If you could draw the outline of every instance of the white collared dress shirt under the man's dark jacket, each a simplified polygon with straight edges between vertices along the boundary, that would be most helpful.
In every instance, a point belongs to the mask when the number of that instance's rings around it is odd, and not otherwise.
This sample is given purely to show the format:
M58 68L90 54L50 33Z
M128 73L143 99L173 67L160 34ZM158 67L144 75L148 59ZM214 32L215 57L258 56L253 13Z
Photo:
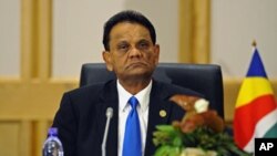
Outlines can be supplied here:
M146 142L151 89L152 89L152 81L144 90L142 90L141 92L134 95L138 101L138 105L136 110L138 113L140 126L141 126L142 155L144 155L144 148L145 148L145 142ZM129 93L120 84L119 80L117 80L117 92L119 92L119 152L117 153L119 153L119 156L122 156L126 118L132 108L131 105L127 104L127 101L133 95Z

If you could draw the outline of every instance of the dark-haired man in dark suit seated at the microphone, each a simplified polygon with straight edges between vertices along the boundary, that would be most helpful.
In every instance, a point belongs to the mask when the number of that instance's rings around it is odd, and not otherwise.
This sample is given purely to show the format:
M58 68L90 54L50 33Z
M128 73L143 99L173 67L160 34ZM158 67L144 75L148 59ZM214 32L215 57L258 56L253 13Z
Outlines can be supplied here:
M171 124L185 113L168 98L174 94L199 94L152 79L158 63L160 45L153 24L143 14L122 11L113 15L104 25L103 44L103 60L117 79L64 93L53 122L59 128L64 156L102 155L107 107L113 108L114 115L107 133L106 155L127 156L124 136L132 110L127 101L131 96L138 101L138 155L151 156L155 152L152 142L155 126Z

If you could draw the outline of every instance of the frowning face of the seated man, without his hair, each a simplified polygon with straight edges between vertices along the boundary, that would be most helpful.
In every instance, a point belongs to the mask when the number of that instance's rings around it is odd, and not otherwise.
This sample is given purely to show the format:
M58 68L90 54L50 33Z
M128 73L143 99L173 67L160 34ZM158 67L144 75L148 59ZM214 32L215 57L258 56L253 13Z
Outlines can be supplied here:
M104 61L121 81L151 77L158 63L160 46L153 44L145 27L117 23L111 30L109 45L110 51L103 52Z

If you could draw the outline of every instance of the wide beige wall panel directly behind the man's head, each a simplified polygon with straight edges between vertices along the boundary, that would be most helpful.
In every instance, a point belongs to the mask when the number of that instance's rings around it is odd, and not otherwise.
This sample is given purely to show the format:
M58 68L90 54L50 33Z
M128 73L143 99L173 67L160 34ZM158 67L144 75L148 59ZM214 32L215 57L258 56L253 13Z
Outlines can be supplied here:
M176 62L178 0L54 0L53 76L79 76L82 63L102 61L104 22L114 13L134 9L156 28L161 61Z

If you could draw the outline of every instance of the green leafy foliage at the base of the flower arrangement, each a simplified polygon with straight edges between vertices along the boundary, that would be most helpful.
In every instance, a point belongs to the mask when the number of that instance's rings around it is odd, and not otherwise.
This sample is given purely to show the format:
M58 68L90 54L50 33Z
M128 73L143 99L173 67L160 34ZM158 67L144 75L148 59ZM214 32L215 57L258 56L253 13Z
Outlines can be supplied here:
M208 127L198 127L192 133L182 133L172 125L160 125L154 132L153 142L158 146L155 156L178 156L182 148L196 147L204 150L215 150L218 156L250 156L240 150L232 136L226 133L215 133Z

